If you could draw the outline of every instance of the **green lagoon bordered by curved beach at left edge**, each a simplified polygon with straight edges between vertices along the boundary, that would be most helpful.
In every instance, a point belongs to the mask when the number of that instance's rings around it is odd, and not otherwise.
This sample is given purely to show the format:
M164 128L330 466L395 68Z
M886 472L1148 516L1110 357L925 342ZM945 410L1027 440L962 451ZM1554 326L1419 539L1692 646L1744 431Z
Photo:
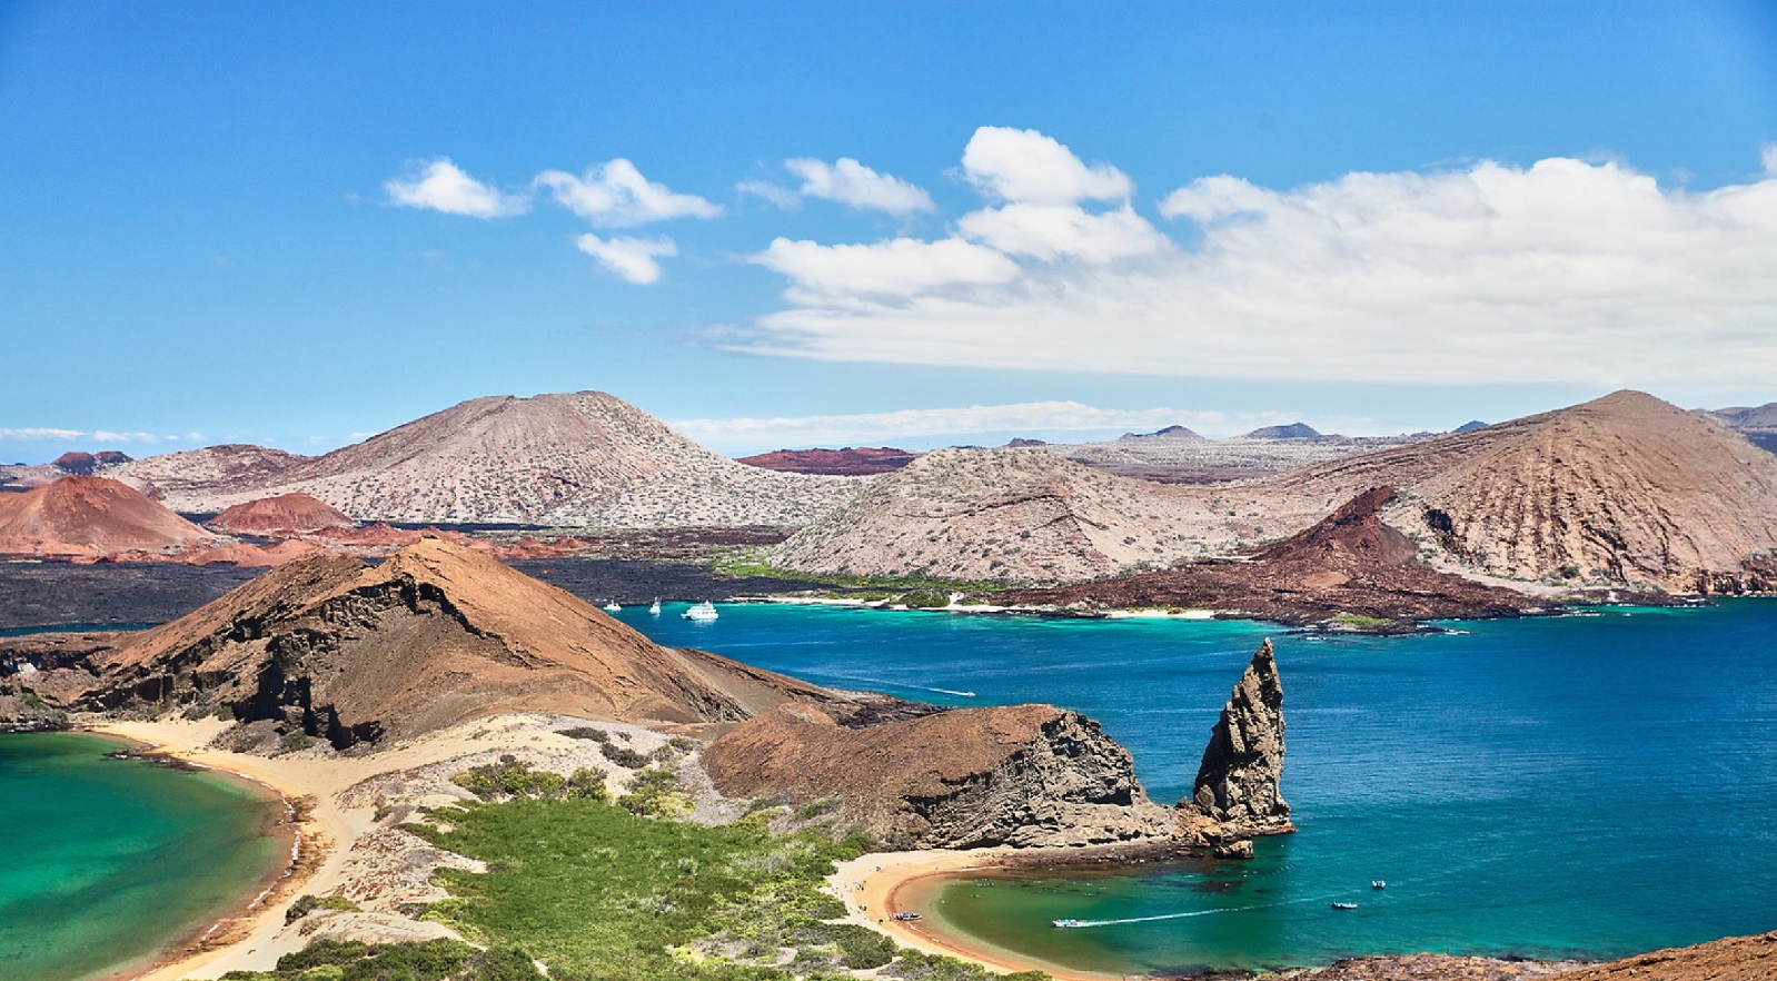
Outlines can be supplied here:
M281 862L274 800L211 773L107 759L119 748L0 736L0 977L75 981L139 963Z

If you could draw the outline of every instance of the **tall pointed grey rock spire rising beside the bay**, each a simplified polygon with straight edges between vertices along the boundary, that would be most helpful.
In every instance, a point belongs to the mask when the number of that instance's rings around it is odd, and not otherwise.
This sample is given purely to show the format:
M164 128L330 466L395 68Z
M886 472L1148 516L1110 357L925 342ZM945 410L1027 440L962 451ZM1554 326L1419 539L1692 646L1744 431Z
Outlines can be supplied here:
M1283 684L1267 638L1223 706L1198 782L1180 805L1223 825L1223 837L1294 832L1290 805L1278 796L1281 775Z

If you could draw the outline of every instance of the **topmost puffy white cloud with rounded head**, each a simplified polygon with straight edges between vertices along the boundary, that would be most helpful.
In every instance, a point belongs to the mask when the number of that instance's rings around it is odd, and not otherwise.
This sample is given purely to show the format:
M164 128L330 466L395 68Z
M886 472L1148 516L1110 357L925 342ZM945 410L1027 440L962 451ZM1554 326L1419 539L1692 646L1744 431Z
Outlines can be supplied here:
M1032 204L1118 201L1136 185L1123 171L1088 167L1052 137L1036 130L981 126L963 149L963 176L983 194Z

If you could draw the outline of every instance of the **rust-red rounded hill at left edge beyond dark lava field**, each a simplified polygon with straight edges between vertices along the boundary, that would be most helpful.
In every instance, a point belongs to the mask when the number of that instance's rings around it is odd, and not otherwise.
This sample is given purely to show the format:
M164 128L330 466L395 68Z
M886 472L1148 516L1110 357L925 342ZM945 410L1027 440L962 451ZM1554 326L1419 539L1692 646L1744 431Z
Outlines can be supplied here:
M103 476L0 494L0 554L103 556L213 544L217 535Z

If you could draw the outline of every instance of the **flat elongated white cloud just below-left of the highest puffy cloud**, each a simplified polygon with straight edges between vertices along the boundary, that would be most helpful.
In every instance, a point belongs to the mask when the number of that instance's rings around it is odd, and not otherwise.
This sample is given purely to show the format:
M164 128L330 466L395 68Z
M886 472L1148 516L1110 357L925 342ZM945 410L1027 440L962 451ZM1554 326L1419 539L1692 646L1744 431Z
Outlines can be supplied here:
M1018 277L1018 263L960 238L894 238L873 245L821 245L775 238L752 261L782 272L798 297L906 297L954 284Z

